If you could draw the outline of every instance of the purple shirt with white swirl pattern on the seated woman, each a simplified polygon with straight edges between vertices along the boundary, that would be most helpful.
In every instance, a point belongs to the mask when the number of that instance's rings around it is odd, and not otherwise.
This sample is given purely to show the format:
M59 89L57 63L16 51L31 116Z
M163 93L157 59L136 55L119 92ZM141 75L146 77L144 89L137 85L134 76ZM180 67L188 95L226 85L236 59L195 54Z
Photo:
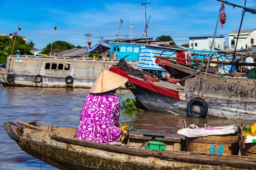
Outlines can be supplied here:
M76 138L91 142L118 142L120 100L110 92L88 94L80 113Z

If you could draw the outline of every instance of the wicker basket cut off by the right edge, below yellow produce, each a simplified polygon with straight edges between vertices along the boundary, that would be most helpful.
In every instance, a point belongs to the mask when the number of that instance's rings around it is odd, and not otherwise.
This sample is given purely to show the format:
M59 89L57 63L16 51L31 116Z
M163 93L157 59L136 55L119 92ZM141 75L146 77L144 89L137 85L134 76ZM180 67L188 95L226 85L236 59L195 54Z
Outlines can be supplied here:
M239 147L241 151L241 156L253 156L256 157L256 143L244 143L243 130L239 127L238 135Z

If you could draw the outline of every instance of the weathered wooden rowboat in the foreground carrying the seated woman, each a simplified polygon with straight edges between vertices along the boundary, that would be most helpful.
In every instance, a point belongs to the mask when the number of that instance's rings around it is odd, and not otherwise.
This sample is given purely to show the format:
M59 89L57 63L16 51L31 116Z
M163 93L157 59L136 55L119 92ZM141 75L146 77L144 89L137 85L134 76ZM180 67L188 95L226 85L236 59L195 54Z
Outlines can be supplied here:
M157 138L167 144L166 150L141 148L150 139L140 133L130 134L126 144L101 144L75 139L76 128L37 126L17 127L5 122L7 134L22 150L61 170L248 170L256 160L245 156L191 153L184 150L184 139ZM37 129L37 130L36 130ZM18 132L18 133L17 133ZM18 134L20 136L18 136Z

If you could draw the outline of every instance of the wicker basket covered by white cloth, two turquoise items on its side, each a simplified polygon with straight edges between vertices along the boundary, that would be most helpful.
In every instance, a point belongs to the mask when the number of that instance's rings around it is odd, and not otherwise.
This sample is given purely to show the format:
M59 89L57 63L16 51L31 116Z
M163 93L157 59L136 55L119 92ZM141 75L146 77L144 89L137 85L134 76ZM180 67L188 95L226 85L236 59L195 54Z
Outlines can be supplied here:
M189 152L238 155L239 144L237 134L212 135L205 137L186 137Z

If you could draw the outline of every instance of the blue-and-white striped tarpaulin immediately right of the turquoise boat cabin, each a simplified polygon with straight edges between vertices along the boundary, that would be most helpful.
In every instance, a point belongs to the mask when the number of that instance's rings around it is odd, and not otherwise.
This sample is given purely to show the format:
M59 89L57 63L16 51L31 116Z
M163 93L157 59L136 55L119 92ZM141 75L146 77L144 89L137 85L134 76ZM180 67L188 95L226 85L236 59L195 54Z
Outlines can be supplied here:
M163 68L158 66L155 61L156 57L160 56L164 49L140 47L140 59L138 62L138 68L149 70L162 70ZM163 57L176 57L176 51L166 50L161 55Z

